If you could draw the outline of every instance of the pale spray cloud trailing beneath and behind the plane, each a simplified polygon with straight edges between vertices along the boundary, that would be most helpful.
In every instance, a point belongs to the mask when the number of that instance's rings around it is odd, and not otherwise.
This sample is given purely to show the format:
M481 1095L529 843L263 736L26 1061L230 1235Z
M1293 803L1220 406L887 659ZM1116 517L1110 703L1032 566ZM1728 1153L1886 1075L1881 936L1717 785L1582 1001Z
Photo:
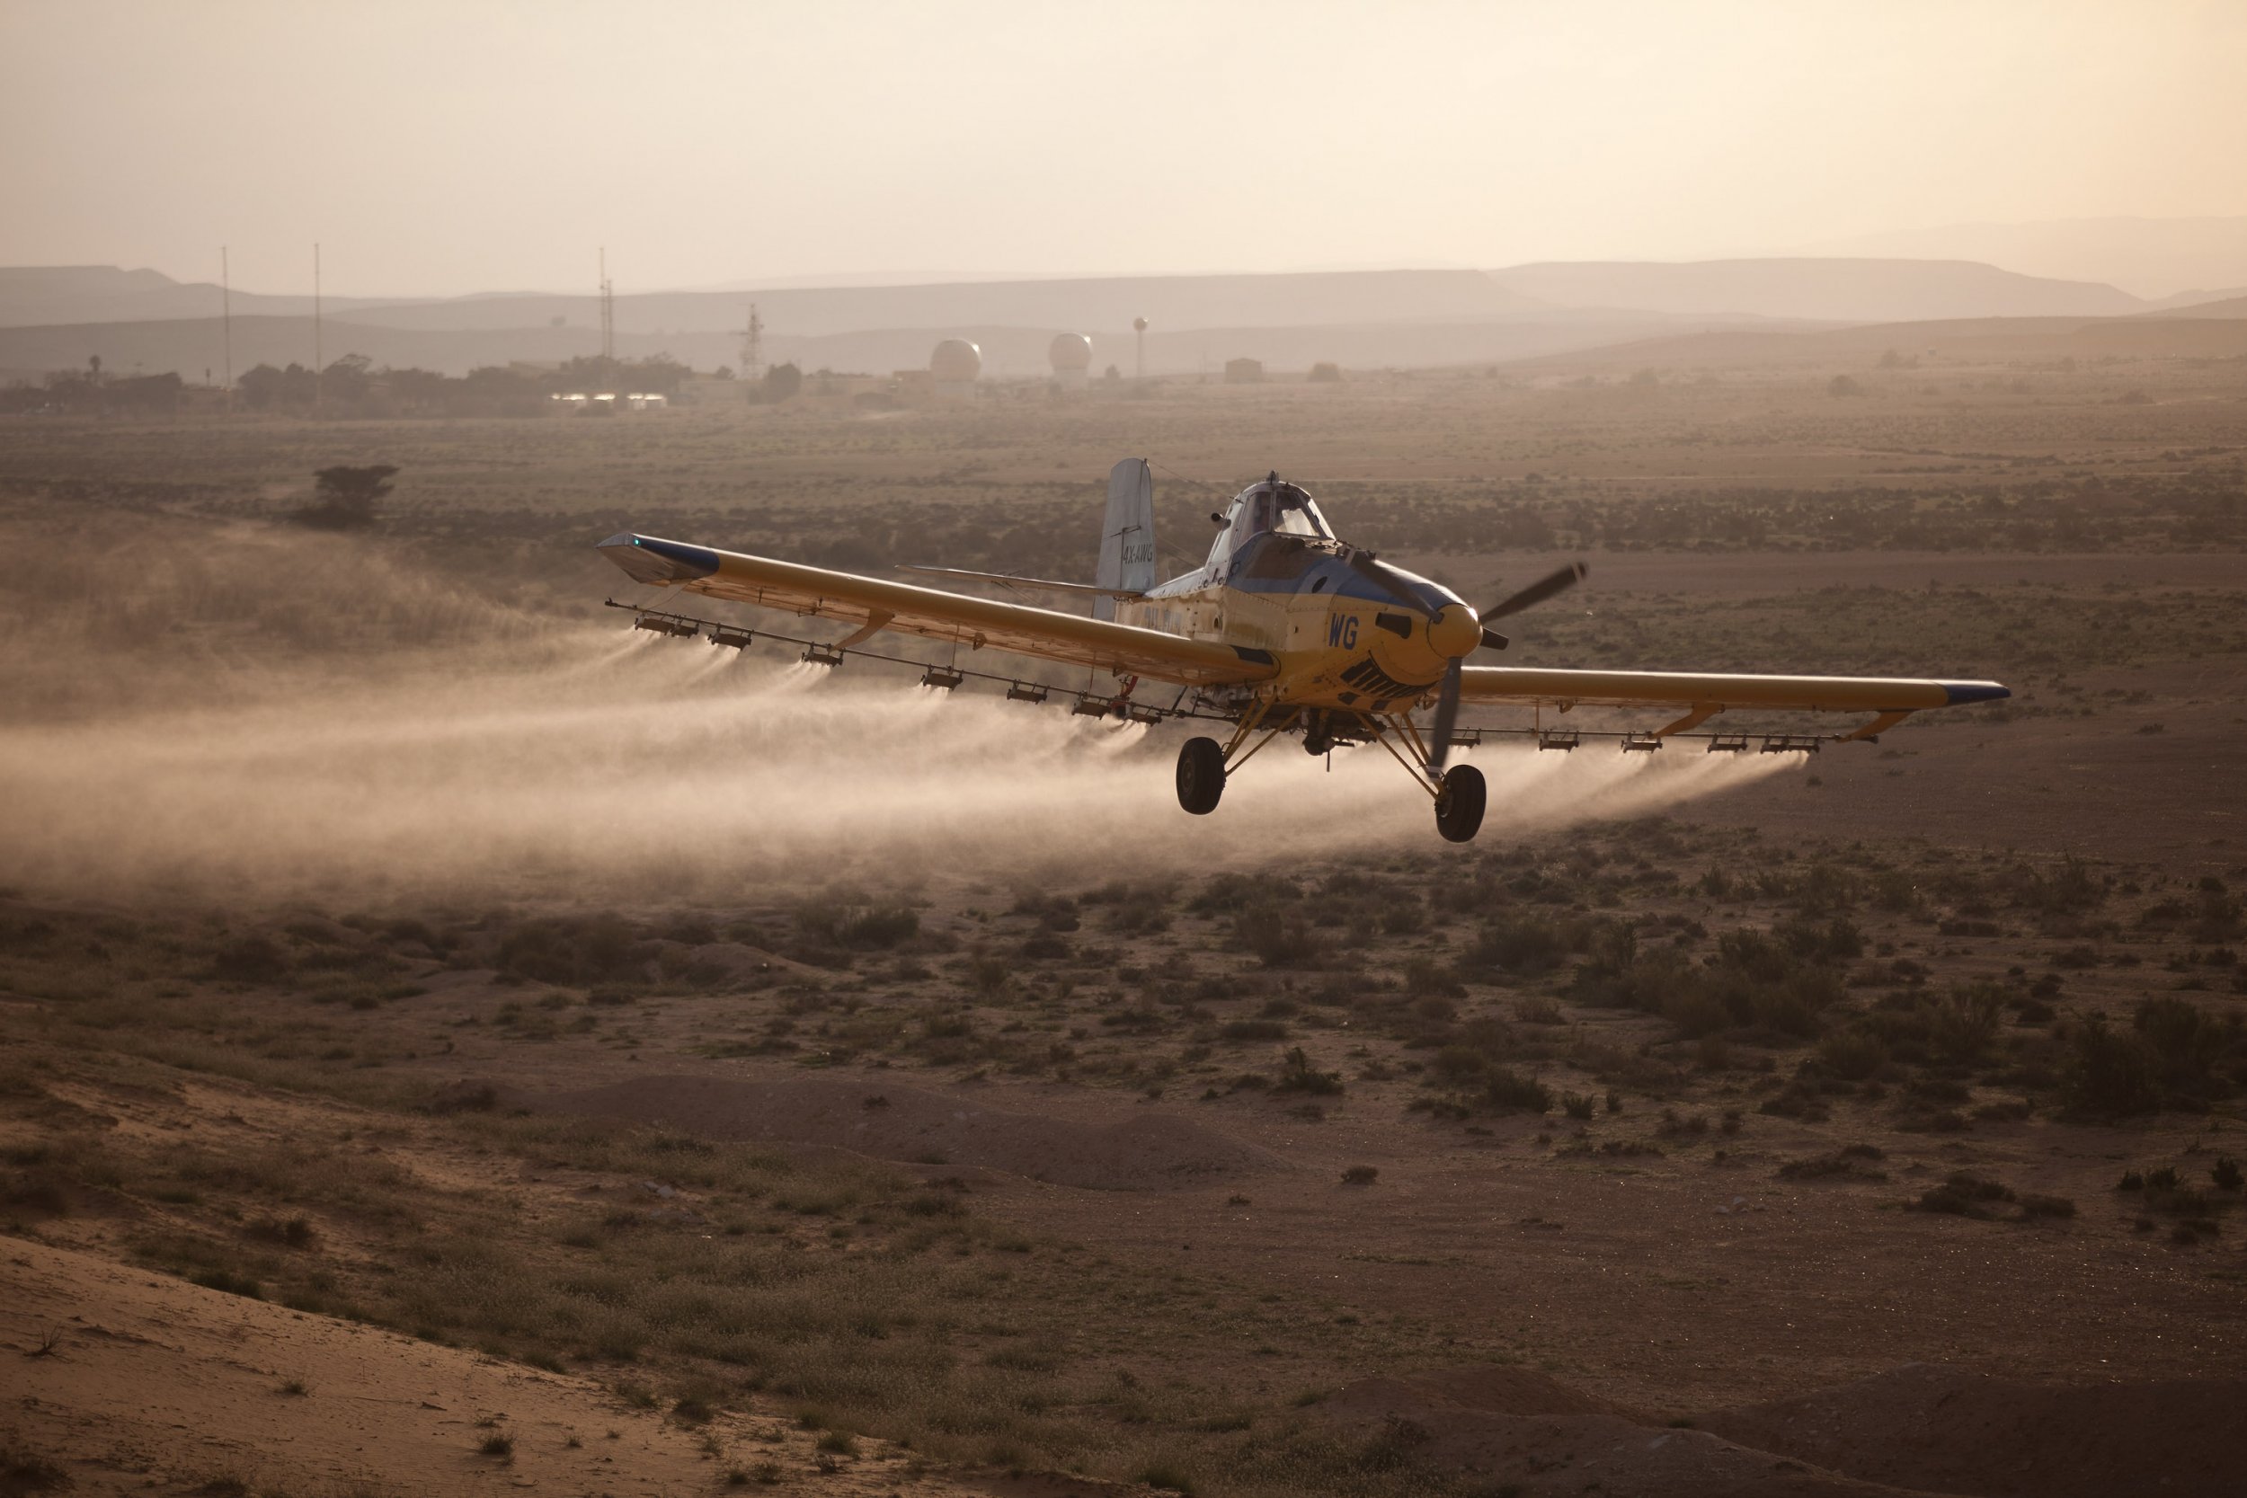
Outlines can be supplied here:
M553 633L528 669L452 654L216 707L9 723L0 876L198 898L737 898L840 876L1081 880L1449 847L1380 748L1328 770L1274 741L1216 815L1189 817L1177 725L935 692L874 663ZM1782 768L1609 748L1472 759L1490 777L1485 849Z

